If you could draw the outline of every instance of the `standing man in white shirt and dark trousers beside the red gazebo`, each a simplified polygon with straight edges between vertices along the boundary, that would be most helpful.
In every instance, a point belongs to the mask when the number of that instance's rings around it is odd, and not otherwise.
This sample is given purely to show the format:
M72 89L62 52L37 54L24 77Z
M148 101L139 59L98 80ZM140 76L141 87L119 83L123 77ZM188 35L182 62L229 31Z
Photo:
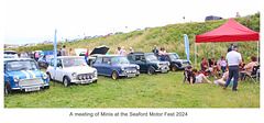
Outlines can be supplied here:
M229 67L229 77L228 80L224 83L223 90L227 89L228 85L230 83L230 80L233 78L233 91L239 91L237 89L238 87L238 80L239 80L239 65L242 64L242 57L241 54L238 53L238 45L233 44L232 51L229 52L226 56L226 62L228 63Z

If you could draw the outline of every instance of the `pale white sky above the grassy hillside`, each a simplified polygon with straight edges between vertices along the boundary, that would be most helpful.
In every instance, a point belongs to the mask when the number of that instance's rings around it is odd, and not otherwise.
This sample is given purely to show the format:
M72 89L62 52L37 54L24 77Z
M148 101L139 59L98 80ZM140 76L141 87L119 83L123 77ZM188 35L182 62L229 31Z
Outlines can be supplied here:
M260 7L261 0L3 0L3 44L54 41L55 29L65 41L204 22L207 15L245 16Z

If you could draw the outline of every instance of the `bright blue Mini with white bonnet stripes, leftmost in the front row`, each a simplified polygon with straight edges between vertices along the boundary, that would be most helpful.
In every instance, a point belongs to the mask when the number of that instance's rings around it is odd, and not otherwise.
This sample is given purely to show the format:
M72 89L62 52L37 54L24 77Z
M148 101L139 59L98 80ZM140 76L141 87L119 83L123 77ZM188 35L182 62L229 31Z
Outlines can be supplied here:
M3 68L6 94L14 90L28 92L50 88L47 75L37 68L34 59L4 58Z

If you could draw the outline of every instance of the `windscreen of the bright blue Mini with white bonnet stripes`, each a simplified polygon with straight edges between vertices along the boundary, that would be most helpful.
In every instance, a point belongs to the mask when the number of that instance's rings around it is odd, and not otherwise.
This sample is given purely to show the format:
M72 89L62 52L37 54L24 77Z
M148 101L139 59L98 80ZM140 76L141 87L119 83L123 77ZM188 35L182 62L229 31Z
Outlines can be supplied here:
M7 70L8 71L18 71L18 70L31 70L36 69L35 62L32 60L21 60L21 62L8 62Z

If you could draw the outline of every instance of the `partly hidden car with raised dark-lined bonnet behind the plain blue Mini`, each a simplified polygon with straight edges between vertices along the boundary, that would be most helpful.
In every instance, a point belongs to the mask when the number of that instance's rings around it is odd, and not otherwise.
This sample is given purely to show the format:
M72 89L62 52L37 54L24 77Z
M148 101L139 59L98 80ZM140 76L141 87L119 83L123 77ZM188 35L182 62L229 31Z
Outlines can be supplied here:
M89 57L87 58L88 65L89 65L89 66L92 66L92 64L96 62L97 56L98 56L98 55L106 55L108 51L109 51L109 47L107 47L107 46L96 47L96 48L89 54Z

